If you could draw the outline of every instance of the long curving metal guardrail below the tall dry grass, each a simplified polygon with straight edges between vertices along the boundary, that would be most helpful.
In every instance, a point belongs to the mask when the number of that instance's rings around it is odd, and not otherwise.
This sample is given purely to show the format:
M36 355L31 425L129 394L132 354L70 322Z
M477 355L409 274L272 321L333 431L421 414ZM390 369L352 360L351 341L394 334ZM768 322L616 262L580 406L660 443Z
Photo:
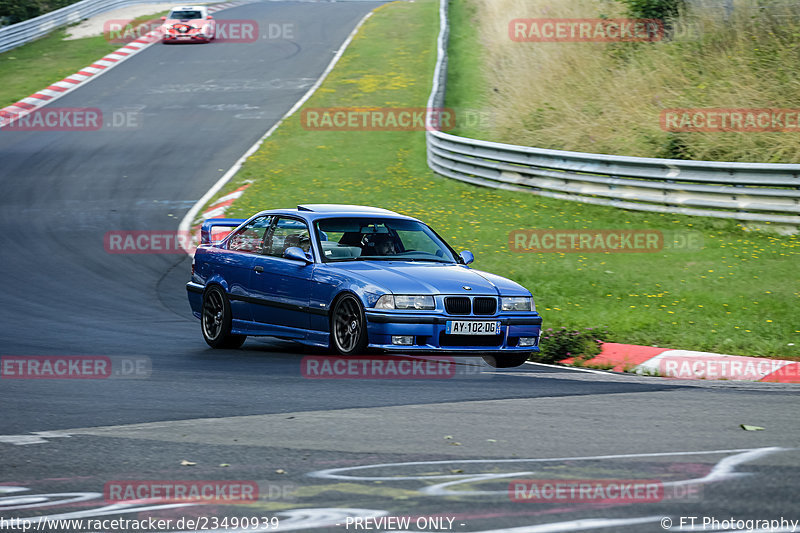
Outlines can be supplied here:
M444 107L448 1L440 0L438 58L428 100L432 110ZM432 128L427 148L434 172L475 185L639 211L800 225L800 165L546 150Z

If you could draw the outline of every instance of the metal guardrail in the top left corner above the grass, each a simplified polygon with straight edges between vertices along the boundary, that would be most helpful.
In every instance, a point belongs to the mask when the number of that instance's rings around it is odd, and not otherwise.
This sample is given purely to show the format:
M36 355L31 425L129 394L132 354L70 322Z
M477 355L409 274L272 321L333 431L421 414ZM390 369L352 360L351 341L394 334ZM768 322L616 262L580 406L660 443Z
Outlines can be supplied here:
M80 22L94 15L152 0L82 0L39 17L0 28L0 53L23 45L67 24Z

